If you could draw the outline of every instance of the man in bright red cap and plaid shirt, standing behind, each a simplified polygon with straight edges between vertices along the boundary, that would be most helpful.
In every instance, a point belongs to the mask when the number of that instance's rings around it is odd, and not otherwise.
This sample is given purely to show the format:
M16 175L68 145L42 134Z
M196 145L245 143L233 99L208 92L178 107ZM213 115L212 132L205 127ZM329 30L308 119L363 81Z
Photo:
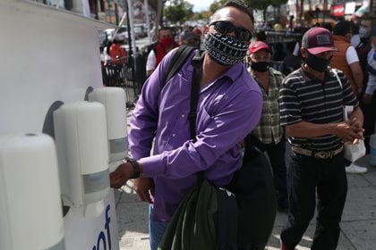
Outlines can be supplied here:
M259 84L262 93L262 114L251 136L257 137L261 148L268 153L273 171L274 186L277 191L278 210L287 210L286 187L286 141L284 129L279 122L278 96L279 88L285 76L270 66L271 49L262 42L252 43L249 49L248 71Z

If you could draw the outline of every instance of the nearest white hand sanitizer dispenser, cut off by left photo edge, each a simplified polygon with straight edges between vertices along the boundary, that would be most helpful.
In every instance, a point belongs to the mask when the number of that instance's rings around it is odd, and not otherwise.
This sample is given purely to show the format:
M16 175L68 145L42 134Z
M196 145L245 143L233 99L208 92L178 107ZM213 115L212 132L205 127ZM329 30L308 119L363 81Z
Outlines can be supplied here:
M0 249L65 249L56 147L45 134L0 136Z

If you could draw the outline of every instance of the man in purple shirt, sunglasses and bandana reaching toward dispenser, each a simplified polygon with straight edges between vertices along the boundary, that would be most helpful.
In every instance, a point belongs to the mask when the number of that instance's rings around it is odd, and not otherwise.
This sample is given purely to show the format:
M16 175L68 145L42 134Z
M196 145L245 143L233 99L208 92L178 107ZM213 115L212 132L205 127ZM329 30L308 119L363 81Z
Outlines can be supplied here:
M188 121L194 53L165 84L163 76L174 51L167 54L142 87L129 132L132 157L137 161L121 164L110 178L111 187L135 179L141 200L152 204L152 250L157 249L180 201L197 182L199 171L213 185L223 187L241 165L241 142L258 124L262 106L260 88L243 64L252 31L252 13L234 1L221 6L204 29L195 141Z

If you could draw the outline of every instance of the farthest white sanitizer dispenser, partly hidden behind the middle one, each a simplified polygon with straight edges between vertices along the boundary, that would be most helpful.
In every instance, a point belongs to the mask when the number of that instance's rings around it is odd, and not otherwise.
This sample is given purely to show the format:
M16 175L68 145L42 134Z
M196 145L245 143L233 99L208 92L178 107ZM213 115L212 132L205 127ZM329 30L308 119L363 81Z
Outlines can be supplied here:
M89 100L105 105L110 171L114 171L128 152L124 89L99 87L89 94Z

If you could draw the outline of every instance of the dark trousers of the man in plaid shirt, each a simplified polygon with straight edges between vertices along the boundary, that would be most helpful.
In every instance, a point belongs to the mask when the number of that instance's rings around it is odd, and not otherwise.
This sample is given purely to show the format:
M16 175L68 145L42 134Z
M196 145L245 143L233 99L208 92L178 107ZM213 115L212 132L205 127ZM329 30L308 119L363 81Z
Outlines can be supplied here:
M273 171L274 187L276 188L277 203L287 206L287 181L286 181L286 140L283 137L278 144L265 145L265 151L269 155L271 169Z

